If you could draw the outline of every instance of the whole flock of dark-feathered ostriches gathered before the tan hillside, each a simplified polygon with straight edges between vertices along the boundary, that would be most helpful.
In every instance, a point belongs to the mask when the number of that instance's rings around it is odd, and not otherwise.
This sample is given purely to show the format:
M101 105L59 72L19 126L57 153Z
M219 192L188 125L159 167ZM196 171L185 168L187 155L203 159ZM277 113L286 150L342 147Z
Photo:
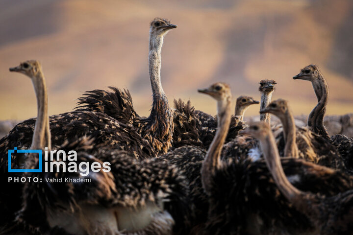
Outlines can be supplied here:
M160 69L163 39L173 28L165 19L151 22L149 117L135 112L127 90L113 87L86 92L74 111L49 117L39 62L10 68L30 77L38 117L0 140L0 233L353 234L353 140L328 135L328 86L318 67L293 77L310 81L318 98L304 128L296 127L288 101L271 101L273 80L260 81L260 122L243 121L259 103L249 96L237 99L233 114L230 88L221 82L199 90L217 101L216 117L190 101L175 100L172 108ZM270 114L282 123L276 132ZM9 173L7 151L14 147L75 150L76 163L109 162L111 171ZM32 153L11 159L12 168L39 167ZM66 177L91 182L45 180Z

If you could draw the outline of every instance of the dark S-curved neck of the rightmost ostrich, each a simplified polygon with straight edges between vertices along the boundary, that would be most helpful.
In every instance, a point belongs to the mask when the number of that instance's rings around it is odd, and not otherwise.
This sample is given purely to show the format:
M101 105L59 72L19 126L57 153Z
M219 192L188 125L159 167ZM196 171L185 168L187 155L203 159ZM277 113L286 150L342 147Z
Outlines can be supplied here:
M324 76L319 72L318 78L313 80L311 84L318 99L318 104L310 112L307 124L311 131L321 135L327 140L331 140L326 130L326 127L324 126L324 116L326 113L326 105L328 103L327 82Z

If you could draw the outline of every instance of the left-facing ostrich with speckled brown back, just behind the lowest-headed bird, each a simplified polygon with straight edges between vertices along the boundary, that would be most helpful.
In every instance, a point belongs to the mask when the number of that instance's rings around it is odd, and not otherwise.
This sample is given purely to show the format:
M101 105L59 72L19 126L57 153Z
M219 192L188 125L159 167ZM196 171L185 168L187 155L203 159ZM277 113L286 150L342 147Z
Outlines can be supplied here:
M284 99L272 101L260 113L271 113L281 120L283 132L278 135L278 149L282 156L302 158L315 164L345 170L344 163L334 145L306 128L296 130L288 101ZM284 147L283 142L285 142Z

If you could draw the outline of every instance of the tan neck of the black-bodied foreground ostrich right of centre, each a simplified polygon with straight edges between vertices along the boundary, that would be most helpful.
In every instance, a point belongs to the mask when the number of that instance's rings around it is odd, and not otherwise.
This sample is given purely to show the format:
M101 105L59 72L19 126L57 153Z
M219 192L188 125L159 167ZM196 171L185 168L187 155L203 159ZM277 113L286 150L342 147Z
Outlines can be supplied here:
M202 186L206 193L211 190L212 177L221 165L222 146L227 138L231 119L231 97L217 103L218 124L216 135L206 153L202 164Z

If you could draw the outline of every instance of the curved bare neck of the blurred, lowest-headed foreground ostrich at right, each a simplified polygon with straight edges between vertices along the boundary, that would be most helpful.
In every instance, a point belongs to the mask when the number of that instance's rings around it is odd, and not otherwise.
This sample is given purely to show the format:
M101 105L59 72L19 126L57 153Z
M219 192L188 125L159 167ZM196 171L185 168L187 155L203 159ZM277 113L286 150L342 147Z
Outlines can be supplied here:
M302 192L295 188L285 176L273 135L269 134L259 141L266 164L271 171L278 189L291 203L296 203L296 199L299 195L302 195Z

